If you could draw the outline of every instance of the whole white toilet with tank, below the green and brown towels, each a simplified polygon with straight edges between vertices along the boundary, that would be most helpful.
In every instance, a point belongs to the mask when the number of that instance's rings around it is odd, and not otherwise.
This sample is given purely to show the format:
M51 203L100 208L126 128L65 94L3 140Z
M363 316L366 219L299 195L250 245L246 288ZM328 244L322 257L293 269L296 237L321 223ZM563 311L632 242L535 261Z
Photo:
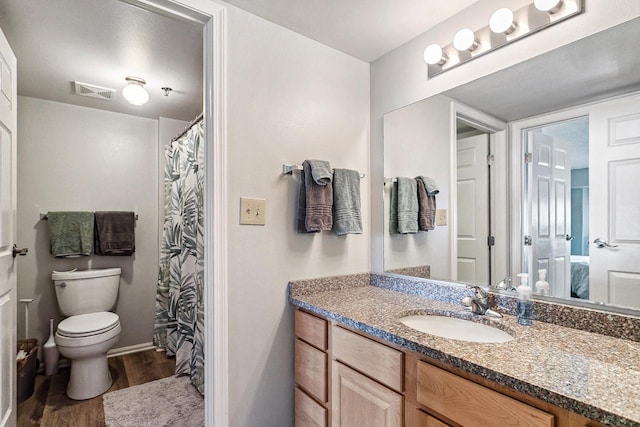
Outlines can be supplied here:
M55 342L60 354L71 360L67 396L91 399L111 387L109 351L120 338L120 319L110 312L118 297L119 268L54 271L60 311Z

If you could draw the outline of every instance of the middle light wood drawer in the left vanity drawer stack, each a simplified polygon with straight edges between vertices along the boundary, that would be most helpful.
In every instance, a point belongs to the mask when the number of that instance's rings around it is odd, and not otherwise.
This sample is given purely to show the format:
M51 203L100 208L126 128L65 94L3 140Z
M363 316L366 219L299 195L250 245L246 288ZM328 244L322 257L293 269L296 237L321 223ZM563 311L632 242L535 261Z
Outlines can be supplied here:
M327 354L296 339L295 376L300 385L320 402L327 402Z

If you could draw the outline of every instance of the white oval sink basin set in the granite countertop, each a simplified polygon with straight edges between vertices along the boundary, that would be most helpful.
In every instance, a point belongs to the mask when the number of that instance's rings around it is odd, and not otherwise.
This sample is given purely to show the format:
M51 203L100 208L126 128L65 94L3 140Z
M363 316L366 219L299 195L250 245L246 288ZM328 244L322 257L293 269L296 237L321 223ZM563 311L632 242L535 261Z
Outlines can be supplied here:
M456 317L423 314L402 317L400 322L420 332L454 340L499 343L513 339L501 329Z

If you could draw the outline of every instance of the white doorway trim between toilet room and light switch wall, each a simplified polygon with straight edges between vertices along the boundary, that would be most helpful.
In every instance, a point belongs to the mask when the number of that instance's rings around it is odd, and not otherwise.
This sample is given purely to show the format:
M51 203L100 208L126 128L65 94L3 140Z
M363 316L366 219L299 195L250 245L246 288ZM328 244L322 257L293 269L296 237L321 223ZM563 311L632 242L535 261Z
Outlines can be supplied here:
M203 25L205 137L205 426L229 425L227 283L227 14L214 0L121 0ZM213 315L210 315L213 314Z

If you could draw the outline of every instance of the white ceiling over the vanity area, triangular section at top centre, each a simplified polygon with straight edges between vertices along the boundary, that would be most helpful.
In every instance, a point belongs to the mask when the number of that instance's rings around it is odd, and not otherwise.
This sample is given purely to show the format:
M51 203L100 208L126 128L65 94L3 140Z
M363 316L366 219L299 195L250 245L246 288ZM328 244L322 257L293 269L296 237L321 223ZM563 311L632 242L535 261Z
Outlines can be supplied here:
M372 62L478 0L226 0Z

